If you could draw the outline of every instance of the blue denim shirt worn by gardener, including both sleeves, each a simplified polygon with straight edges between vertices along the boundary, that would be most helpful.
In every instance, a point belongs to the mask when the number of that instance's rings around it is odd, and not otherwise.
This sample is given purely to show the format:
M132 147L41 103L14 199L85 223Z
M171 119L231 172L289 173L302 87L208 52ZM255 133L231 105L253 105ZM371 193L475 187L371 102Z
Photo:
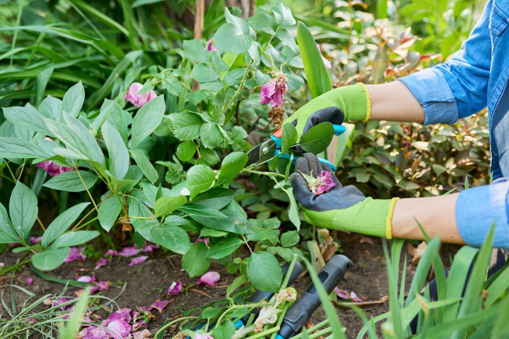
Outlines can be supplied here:
M425 124L452 124L488 106L489 186L460 193L456 221L463 240L480 245L495 226L494 245L509 248L509 0L488 0L479 22L445 63L399 79L421 104Z

